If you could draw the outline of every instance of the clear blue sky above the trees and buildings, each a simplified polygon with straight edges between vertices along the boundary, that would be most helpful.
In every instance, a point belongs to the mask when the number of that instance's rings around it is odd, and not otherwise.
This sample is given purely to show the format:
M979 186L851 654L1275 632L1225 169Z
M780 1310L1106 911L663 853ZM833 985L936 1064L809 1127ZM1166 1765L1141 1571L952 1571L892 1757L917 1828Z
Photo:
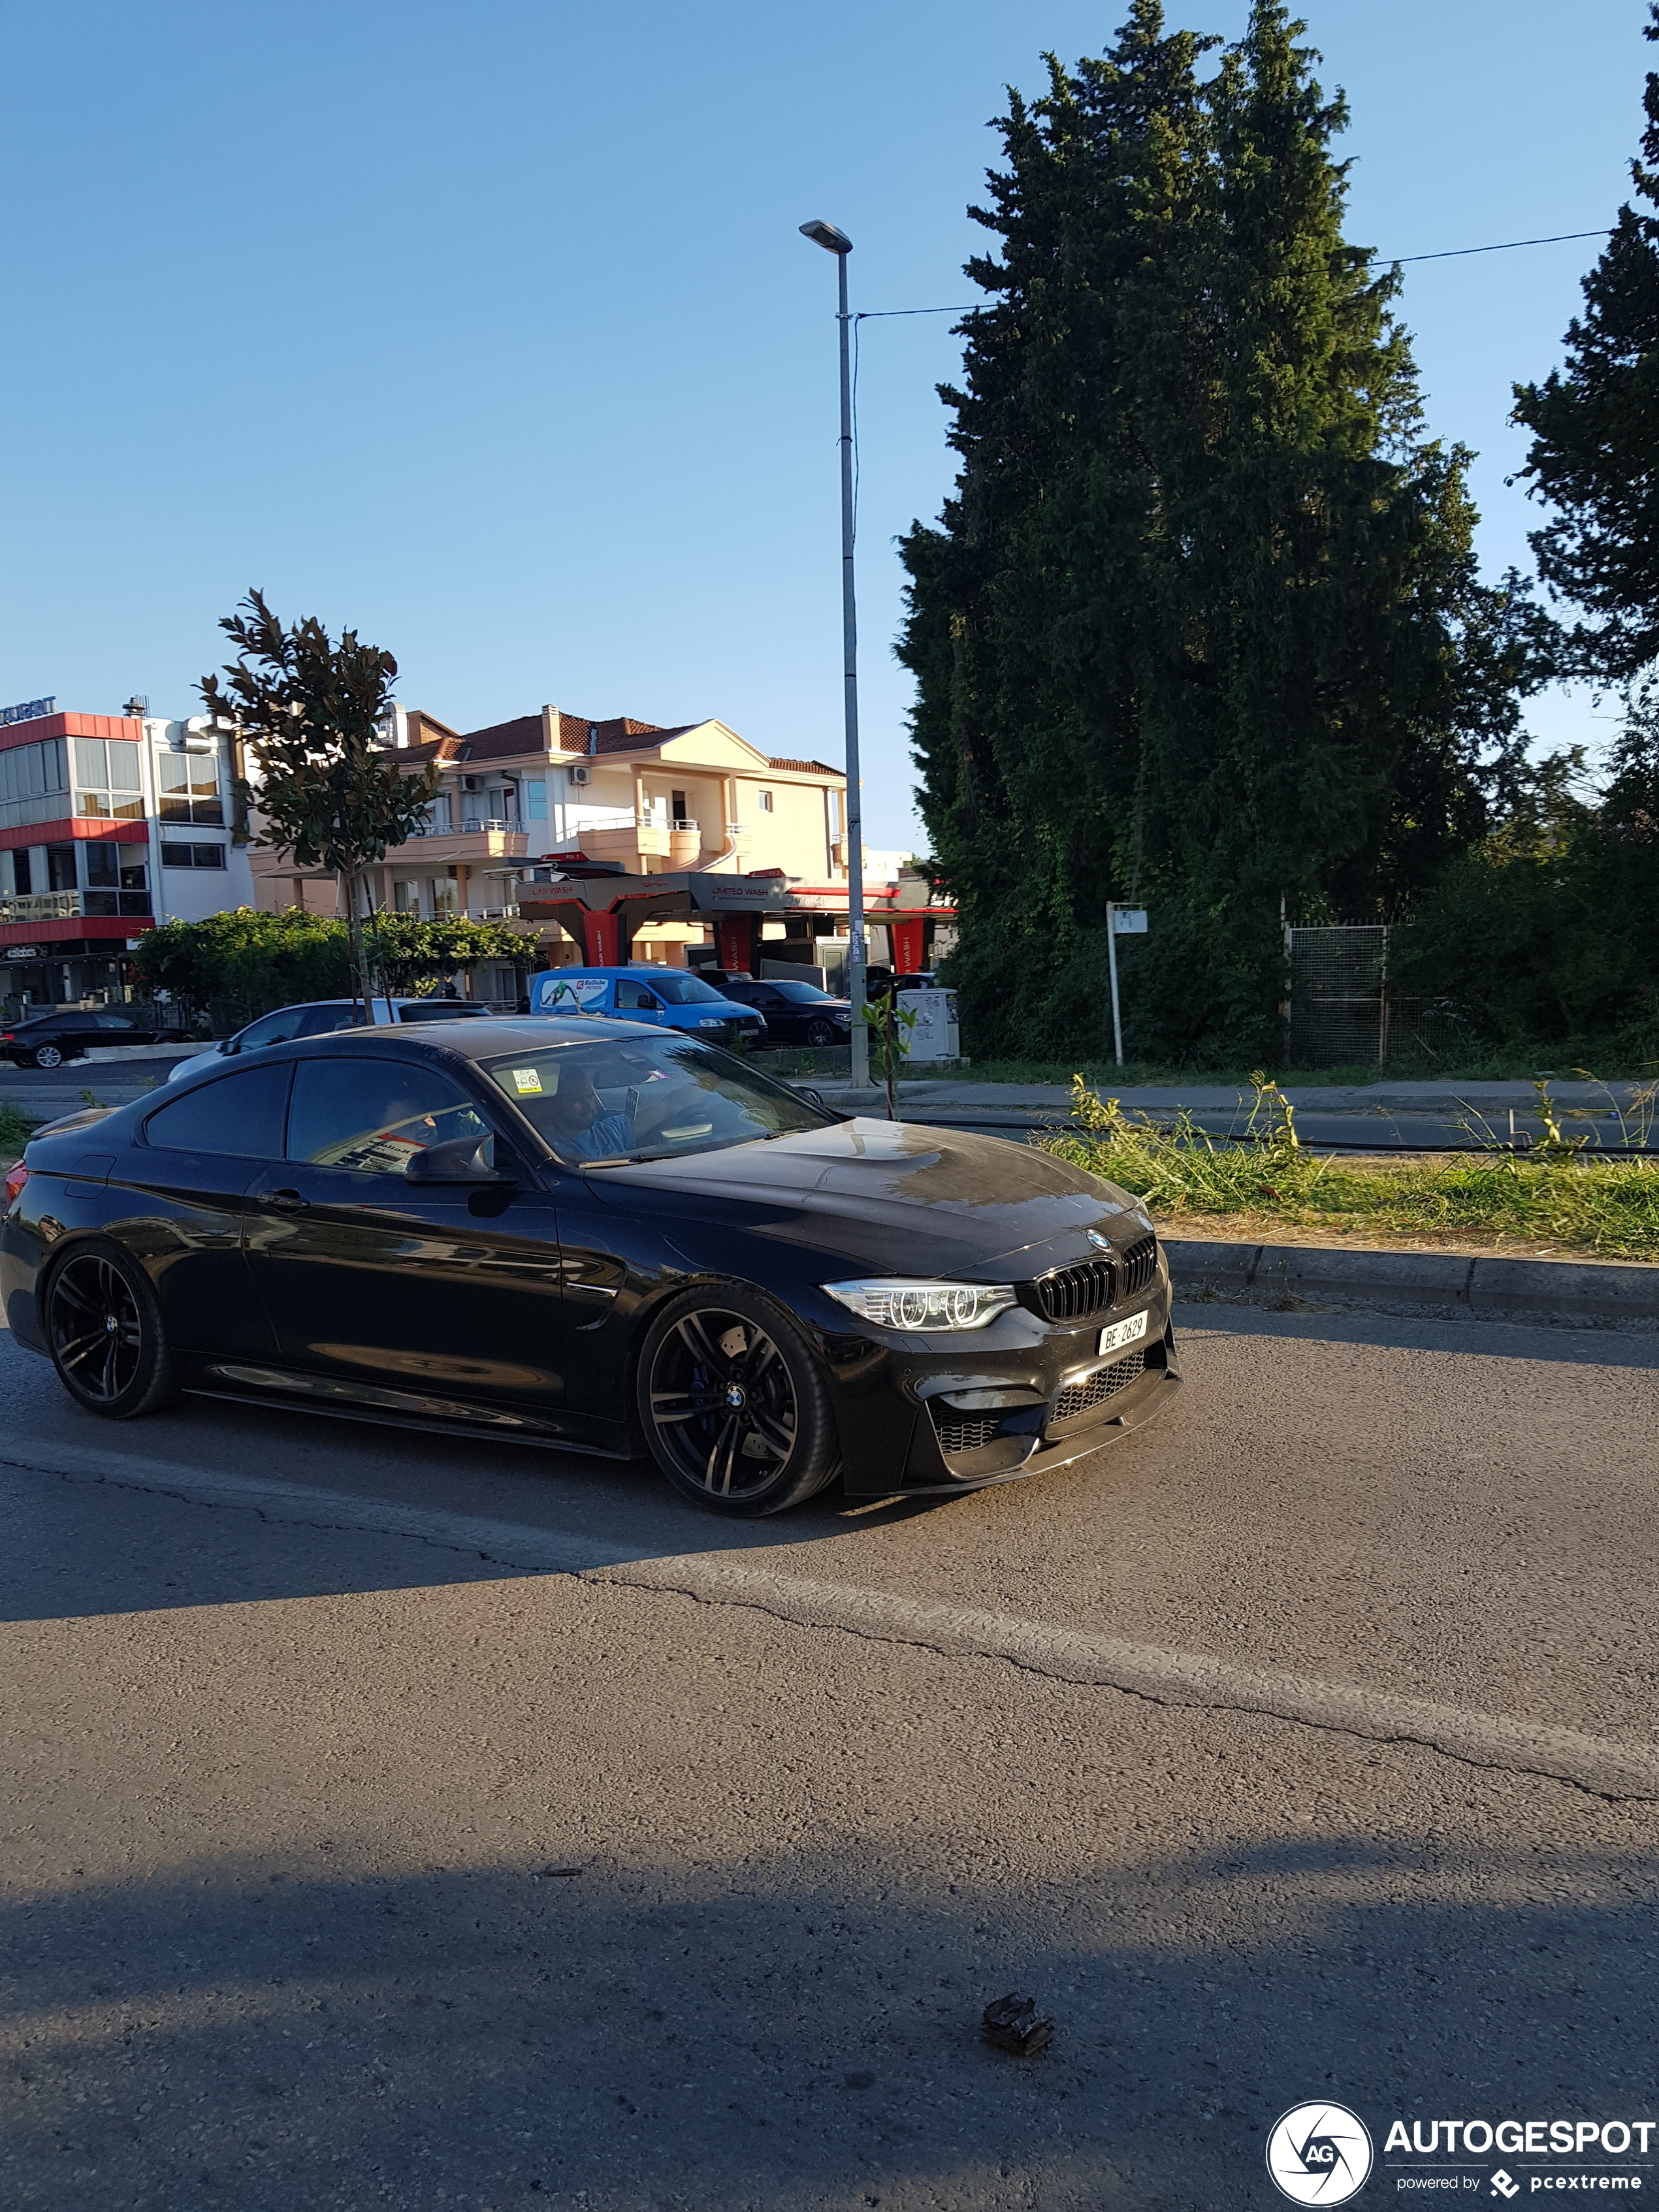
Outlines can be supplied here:
M1075 0L0 0L0 703L192 712L248 584L389 646L462 728L719 714L838 759L834 263L971 296L1002 86L1097 53ZM1387 254L1610 221L1641 0L1316 0ZM1237 35L1243 0L1172 22ZM1480 451L1595 243L1409 270L1431 427ZM894 535L951 480L949 319L863 325L865 825L911 845ZM1604 726L1544 701L1551 737Z

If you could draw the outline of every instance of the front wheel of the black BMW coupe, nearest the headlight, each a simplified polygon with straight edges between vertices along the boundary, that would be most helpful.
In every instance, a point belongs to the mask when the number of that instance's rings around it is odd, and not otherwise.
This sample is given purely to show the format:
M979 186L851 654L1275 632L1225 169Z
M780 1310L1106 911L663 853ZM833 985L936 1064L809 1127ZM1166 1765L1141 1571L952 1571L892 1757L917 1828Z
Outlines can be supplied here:
M783 1513L841 1473L823 1369L790 1314L745 1283L708 1283L659 1310L635 1402L657 1469L708 1513Z

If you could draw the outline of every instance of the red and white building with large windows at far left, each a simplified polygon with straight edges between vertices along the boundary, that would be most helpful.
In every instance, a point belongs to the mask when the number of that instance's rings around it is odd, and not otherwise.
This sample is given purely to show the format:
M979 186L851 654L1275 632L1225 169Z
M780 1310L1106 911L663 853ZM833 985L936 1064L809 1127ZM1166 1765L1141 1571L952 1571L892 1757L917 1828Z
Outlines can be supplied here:
M252 905L226 741L204 721L60 714L0 721L0 998L104 1006L157 920Z

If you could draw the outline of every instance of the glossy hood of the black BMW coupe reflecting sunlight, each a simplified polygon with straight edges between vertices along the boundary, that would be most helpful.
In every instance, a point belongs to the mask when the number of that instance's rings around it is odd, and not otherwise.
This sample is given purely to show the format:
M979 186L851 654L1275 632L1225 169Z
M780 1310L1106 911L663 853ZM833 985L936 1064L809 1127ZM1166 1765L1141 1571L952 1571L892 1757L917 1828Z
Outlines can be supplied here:
M916 1121L838 1121L672 1164L602 1168L586 1183L613 1206L644 1201L657 1219L743 1228L911 1276L951 1267L1024 1279L1099 1256L1091 1230L1124 1243L1146 1228L1135 1199L1053 1152Z

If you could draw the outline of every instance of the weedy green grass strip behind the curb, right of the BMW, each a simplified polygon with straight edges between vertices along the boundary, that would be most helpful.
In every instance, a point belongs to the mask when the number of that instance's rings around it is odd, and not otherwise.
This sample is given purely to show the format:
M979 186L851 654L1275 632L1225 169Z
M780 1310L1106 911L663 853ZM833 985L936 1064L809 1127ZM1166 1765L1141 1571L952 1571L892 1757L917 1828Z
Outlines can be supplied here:
M1659 1261L1659 1161L1588 1159L1562 1139L1517 1159L1506 1152L1405 1159L1312 1159L1279 1084L1254 1077L1241 1141L1214 1144L1177 1115L1146 1128L1117 1099L1073 1077L1079 1133L1037 1144L1091 1175L1133 1190L1166 1221L1232 1221L1237 1232L1274 1228L1411 1243L1471 1241L1548 1245L1593 1259Z

